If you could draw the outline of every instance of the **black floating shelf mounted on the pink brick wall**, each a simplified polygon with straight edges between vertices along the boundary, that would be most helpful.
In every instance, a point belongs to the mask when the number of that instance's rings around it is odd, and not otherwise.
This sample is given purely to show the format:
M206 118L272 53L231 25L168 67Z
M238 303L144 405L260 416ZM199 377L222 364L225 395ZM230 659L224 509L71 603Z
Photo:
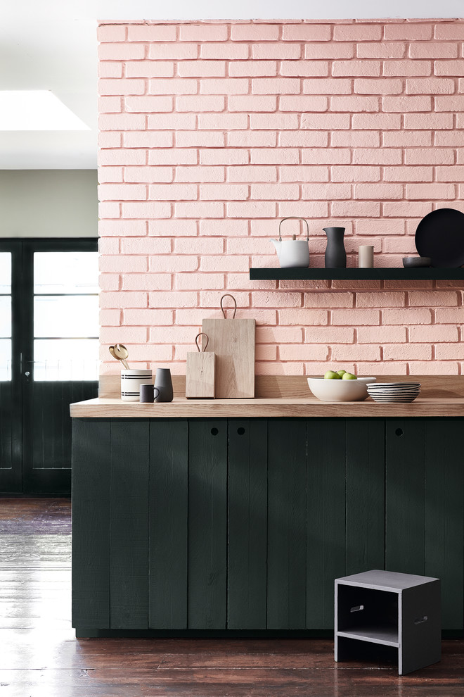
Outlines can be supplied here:
M464 281L464 268L278 269L252 268L252 281Z

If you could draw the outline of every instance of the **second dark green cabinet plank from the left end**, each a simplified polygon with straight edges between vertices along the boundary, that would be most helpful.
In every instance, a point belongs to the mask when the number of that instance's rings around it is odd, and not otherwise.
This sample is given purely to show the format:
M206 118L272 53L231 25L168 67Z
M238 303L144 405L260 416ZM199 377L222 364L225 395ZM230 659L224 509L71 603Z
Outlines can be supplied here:
M112 419L112 629L148 627L148 457L148 419Z

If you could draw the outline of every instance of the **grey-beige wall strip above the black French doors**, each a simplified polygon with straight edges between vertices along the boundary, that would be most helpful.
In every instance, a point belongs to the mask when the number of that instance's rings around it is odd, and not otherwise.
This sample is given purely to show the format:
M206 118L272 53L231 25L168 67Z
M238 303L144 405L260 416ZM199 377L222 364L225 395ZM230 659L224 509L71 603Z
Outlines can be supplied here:
M96 170L0 170L0 237L96 237Z

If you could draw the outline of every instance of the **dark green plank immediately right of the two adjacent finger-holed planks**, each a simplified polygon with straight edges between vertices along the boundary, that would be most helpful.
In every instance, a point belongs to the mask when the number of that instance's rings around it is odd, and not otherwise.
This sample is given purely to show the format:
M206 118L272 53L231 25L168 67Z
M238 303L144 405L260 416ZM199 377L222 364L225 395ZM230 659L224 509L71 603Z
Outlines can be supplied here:
M306 626L306 422L273 419L268 437L267 626Z

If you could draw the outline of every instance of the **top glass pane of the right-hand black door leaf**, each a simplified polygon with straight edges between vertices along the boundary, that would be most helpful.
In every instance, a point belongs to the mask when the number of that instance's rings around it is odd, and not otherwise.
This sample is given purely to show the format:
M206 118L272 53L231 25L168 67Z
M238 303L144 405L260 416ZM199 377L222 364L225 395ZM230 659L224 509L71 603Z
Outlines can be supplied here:
M35 252L34 293L98 293L98 252Z

